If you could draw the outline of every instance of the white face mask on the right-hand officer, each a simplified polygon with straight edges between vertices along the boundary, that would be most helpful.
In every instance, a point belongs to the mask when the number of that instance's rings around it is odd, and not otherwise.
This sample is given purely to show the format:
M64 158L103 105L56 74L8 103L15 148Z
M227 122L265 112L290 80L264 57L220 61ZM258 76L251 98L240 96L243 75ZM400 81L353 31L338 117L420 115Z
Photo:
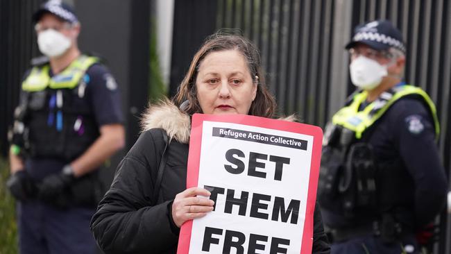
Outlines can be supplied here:
M387 76L386 66L379 62L359 56L349 65L352 83L364 90L377 87L384 76Z

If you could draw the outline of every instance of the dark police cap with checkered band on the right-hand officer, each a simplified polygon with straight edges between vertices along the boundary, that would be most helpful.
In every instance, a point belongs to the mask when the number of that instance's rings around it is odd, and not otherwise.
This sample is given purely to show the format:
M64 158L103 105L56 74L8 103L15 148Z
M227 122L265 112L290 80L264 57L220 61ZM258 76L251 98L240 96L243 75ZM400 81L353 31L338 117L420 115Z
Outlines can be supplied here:
M357 26L352 40L346 45L346 49L354 47L357 43L363 43L376 50L386 50L391 47L406 52L401 32L388 20L377 20Z

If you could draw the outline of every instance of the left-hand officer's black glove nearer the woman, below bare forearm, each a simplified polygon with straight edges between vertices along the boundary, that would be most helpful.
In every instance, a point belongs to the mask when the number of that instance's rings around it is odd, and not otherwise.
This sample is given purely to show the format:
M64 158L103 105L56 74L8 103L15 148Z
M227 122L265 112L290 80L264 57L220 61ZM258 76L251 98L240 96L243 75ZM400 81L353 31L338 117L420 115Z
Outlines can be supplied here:
M65 190L74 180L75 177L71 167L65 166L60 173L47 176L42 180L37 196L42 201L54 203L58 201L62 194L65 194Z

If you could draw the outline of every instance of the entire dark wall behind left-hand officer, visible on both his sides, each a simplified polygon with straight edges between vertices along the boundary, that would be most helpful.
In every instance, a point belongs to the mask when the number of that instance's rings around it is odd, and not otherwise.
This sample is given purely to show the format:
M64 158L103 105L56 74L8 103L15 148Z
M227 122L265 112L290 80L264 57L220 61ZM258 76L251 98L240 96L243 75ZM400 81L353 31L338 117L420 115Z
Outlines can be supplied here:
M40 56L31 22L44 1L0 0L0 149L8 152L7 128L19 98L24 71ZM101 56L117 79L122 93L127 147L102 171L109 185L114 169L139 133L138 118L148 94L148 62L151 1L75 0L81 24L80 49ZM101 99L101 98L99 98Z

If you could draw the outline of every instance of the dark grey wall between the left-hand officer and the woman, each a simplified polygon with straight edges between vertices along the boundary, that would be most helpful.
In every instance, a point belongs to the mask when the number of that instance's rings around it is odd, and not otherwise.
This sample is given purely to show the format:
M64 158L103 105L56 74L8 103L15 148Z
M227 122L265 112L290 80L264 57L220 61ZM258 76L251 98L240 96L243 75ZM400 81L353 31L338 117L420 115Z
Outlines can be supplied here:
M82 24L80 49L105 58L121 89L130 148L148 96L151 1L76 0L75 6Z

